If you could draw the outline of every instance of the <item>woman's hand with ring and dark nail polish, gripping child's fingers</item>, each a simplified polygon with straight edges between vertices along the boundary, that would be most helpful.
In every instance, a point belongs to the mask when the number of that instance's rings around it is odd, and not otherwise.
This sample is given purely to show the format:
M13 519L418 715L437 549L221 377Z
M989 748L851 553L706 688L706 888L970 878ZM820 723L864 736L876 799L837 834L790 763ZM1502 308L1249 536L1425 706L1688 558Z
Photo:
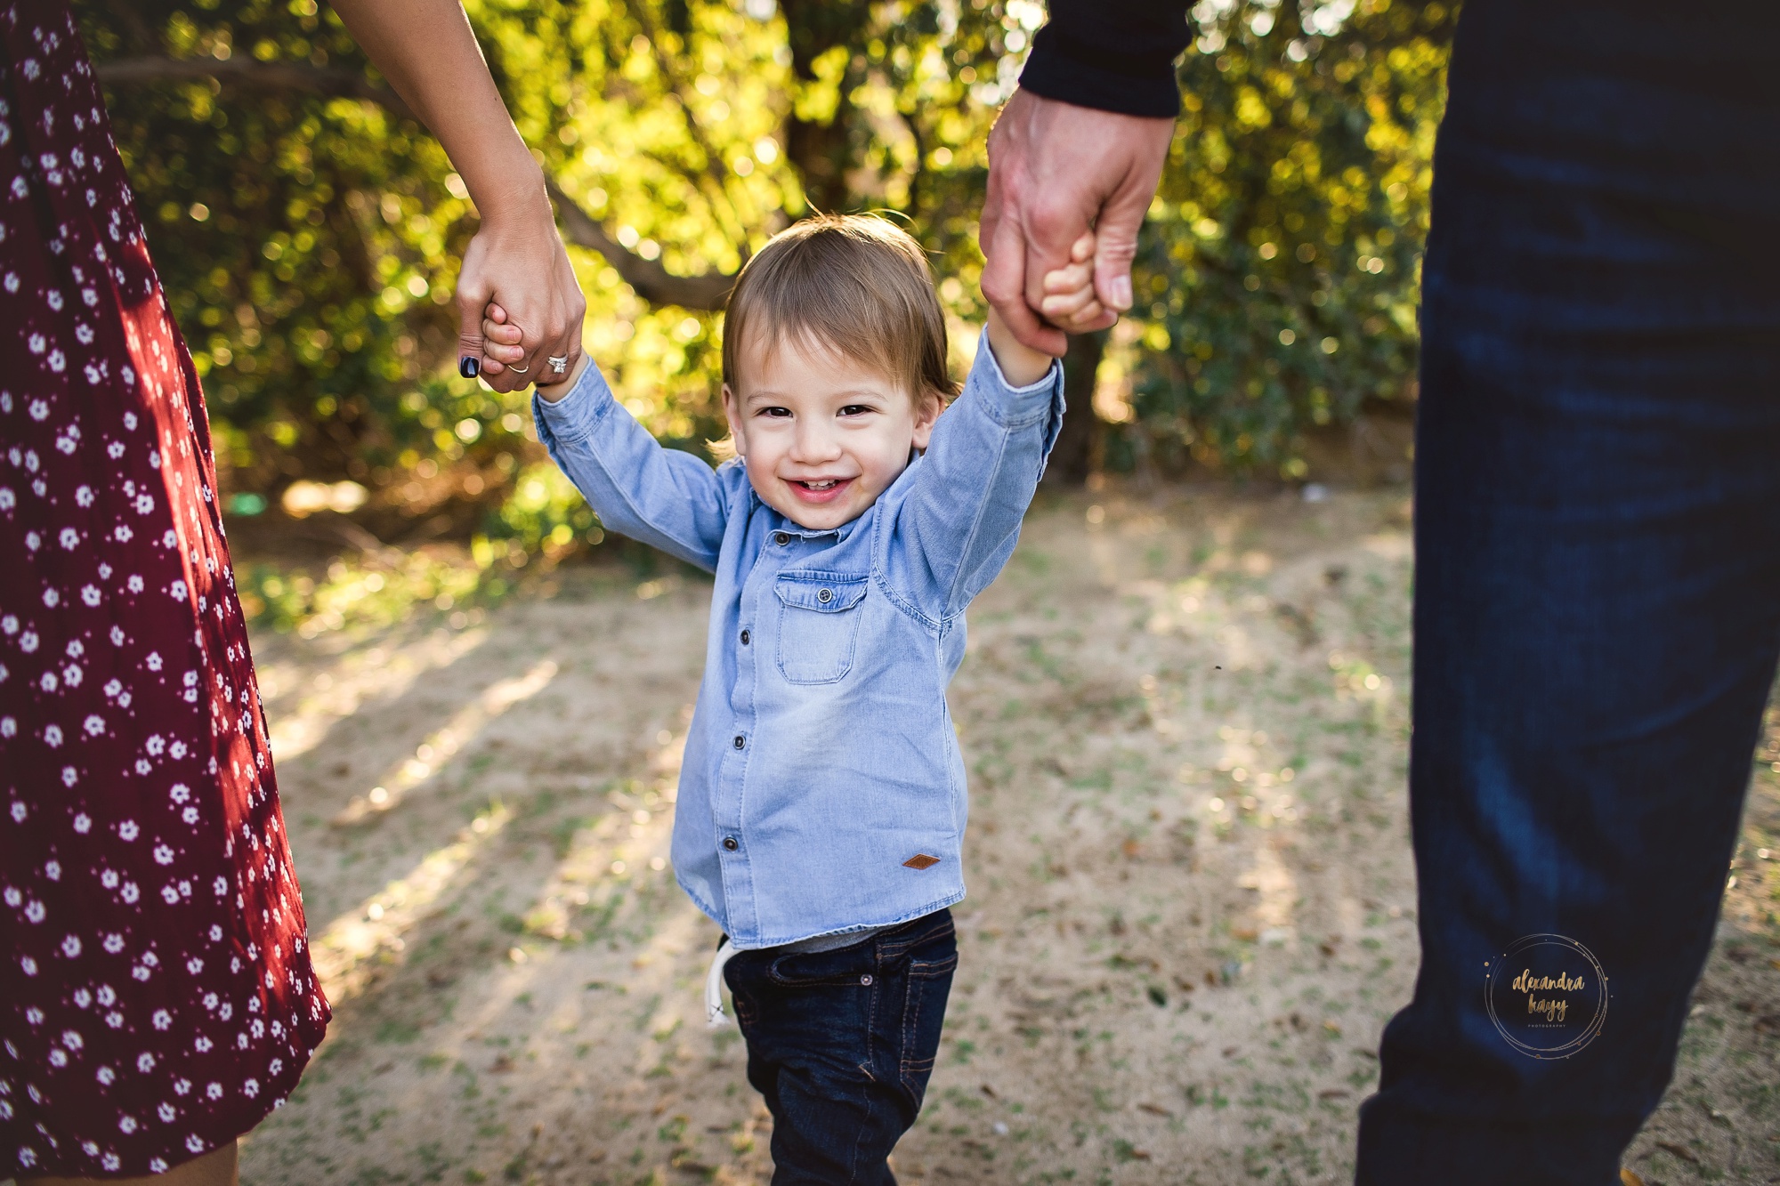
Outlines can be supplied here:
M502 328L484 333L484 315ZM587 301L557 237L550 203L502 217L484 215L457 274L459 370L481 372L497 392L552 383L580 361ZM552 365L561 361L561 370ZM473 363L473 369L472 369Z

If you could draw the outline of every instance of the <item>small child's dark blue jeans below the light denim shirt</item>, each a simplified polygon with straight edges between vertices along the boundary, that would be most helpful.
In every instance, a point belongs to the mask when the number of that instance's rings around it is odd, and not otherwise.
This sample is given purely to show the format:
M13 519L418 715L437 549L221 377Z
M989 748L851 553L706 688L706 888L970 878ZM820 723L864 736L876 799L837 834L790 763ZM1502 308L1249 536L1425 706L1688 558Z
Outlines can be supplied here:
M951 910L837 951L730 958L773 1186L895 1184L886 1159L920 1113L956 969Z

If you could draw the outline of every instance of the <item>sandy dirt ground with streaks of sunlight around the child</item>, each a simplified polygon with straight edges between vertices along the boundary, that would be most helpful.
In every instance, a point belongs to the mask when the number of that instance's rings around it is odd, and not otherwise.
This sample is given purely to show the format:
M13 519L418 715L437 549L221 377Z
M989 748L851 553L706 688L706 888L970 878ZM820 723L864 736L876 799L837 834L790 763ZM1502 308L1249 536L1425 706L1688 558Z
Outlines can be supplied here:
M904 1182L1337 1182L1417 963L1404 493L1041 502L952 703L970 898ZM336 1017L251 1186L765 1182L666 869L708 584L256 638ZM456 629L454 629L454 623ZM1769 743L1776 735L1769 732ZM1629 1166L1780 1181L1780 766Z

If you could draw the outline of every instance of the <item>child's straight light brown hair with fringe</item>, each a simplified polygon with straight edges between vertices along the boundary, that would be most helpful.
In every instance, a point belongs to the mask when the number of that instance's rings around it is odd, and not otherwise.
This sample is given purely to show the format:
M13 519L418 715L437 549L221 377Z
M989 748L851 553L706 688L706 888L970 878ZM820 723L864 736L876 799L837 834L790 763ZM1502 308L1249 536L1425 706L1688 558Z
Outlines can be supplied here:
M748 260L723 317L723 381L737 392L749 335L767 354L787 337L826 345L895 378L911 399L958 395L927 256L879 217L819 214Z

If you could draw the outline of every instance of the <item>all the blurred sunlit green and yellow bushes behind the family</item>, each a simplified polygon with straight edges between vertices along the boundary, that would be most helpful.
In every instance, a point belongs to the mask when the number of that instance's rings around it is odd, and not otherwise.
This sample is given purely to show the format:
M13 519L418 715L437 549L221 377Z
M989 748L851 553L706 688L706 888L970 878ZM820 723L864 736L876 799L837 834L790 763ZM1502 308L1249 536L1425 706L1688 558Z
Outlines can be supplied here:
M933 253L967 363L984 137L1040 4L466 9L559 201L587 347L662 442L707 454L723 435L723 296L812 208L902 221ZM372 568L392 543L457 541L479 573L596 547L527 399L456 376L450 297L475 208L335 14L317 0L77 11L237 520L326 524ZM1406 436L1378 426L1406 424L1415 399L1454 16L1426 0L1200 0L1139 308L1072 342L1050 481L1308 481L1371 438L1385 442L1383 474L1404 474ZM388 600L354 573L326 588ZM441 611L466 595L415 581ZM336 613L283 584L253 597L287 625Z

